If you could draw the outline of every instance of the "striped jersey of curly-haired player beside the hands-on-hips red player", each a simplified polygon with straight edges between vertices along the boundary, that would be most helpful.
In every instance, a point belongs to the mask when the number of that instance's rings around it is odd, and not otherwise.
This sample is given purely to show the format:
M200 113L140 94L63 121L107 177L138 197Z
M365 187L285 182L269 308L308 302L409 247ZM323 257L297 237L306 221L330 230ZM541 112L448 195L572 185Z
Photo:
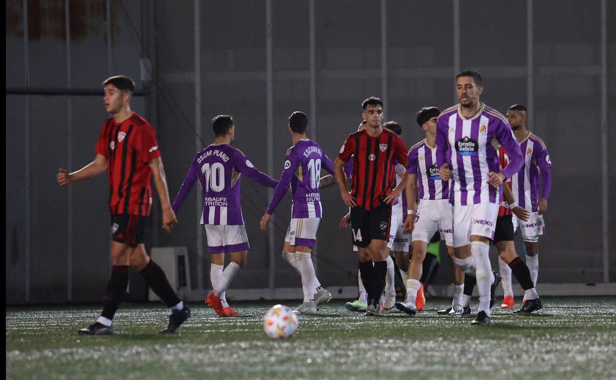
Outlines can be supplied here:
M436 164L436 147L421 140L408 150L408 174L417 174L419 199L438 200L449 198L449 181L440 179Z

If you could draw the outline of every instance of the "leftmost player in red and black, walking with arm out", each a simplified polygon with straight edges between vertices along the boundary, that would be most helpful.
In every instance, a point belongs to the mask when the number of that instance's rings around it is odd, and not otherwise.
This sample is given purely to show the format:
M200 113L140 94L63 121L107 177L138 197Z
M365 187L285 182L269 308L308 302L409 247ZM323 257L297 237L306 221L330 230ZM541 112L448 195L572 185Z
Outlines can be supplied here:
M190 309L173 291L163 270L145 252L145 225L152 210L152 185L163 211L163 228L167 232L176 224L176 215L169 203L169 191L163 160L154 129L144 118L131 110L135 84L123 75L111 76L103 82L106 119L96 144L94 161L78 171L68 173L60 168L60 186L91 179L105 170L109 180L109 213L111 215L111 278L103 297L103 311L95 323L79 330L79 334L112 334L112 320L126 288L129 268L139 271L148 286L171 310L169 325L161 333L174 333L190 317Z

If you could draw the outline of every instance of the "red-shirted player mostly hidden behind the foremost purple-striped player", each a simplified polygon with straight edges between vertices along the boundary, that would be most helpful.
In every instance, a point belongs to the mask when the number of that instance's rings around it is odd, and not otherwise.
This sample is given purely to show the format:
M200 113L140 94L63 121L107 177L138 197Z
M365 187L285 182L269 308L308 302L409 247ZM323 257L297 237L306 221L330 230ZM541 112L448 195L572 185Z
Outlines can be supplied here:
M509 155L503 147L498 148L498 158L501 169L506 168L509 163ZM514 277L516 277L517 281L524 289L524 298L527 299L527 302L522 305L522 309L517 310L516 313L532 313L535 310L541 309L543 304L530 278L529 267L524 264L516 253L516 247L513 242L514 224L512 218L514 215L520 220L525 221L529 219L530 212L514 202L513 193L511 193L511 179L508 179L503 186L503 198L501 198L501 203L498 208L496 231L494 233L494 246L498 249L498 261L505 264L509 269L508 271L503 270L503 265L500 264L501 278L503 278L503 291L505 292L505 301L503 301L501 308L511 309L511 307L513 307L513 291L511 290L511 273L513 273ZM471 302L475 283L476 279L472 276L464 278L463 306L468 313L470 312L469 304ZM509 305L506 303L508 297L511 298L511 307L503 307Z

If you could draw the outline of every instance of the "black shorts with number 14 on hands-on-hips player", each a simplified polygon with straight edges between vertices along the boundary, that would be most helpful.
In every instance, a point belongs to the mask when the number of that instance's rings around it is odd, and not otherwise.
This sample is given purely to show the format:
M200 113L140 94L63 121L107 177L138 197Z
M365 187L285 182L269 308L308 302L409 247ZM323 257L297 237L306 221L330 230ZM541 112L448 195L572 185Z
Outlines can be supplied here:
M366 248L371 240L389 240L391 205L382 203L377 208L366 210L360 206L351 208L351 233L353 244Z

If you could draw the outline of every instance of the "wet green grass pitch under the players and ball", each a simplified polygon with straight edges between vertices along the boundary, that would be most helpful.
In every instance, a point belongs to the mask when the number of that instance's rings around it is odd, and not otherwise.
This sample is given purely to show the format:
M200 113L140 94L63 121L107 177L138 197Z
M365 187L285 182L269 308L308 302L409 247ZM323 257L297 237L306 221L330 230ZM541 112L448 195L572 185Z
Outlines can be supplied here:
M475 300L474 300L475 301ZM516 299L520 302L519 299ZM546 297L533 315L492 309L492 325L442 317L428 299L414 317L365 317L332 301L300 317L298 333L263 333L274 302L232 302L235 318L190 304L179 332L161 336L161 304L124 304L112 336L79 336L99 305L6 308L8 379L614 379L614 297ZM294 305L294 302L284 302ZM474 302L473 310L476 310ZM514 309L519 308L519 303Z

